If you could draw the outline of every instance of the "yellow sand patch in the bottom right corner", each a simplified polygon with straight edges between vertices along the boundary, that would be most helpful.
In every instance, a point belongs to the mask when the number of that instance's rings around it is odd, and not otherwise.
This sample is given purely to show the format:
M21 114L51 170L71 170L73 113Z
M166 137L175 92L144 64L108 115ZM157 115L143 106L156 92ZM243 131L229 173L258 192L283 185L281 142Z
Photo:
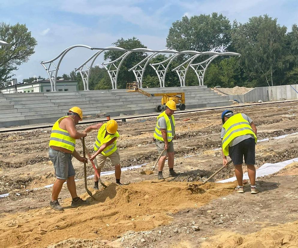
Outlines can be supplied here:
M240 235L222 232L204 242L201 248L267 248L298 247L298 221L261 229L259 232Z

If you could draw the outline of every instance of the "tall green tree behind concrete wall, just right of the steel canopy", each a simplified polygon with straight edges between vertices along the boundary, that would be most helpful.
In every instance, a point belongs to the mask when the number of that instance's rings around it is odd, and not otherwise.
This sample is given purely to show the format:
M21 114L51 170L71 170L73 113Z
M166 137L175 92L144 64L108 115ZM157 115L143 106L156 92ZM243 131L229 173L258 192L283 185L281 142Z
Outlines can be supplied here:
M236 51L241 54L246 73L262 75L267 84L273 86L274 73L288 66L285 26L268 15L254 16L249 22L234 22L232 41ZM258 85L262 86L262 85Z

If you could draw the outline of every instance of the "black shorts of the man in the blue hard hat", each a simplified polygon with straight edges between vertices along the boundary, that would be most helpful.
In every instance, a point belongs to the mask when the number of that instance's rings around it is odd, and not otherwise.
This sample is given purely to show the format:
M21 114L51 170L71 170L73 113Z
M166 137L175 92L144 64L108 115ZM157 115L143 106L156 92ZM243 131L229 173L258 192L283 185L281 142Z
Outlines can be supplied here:
M234 165L243 164L243 156L246 164L255 164L255 139L249 138L230 146L229 156Z

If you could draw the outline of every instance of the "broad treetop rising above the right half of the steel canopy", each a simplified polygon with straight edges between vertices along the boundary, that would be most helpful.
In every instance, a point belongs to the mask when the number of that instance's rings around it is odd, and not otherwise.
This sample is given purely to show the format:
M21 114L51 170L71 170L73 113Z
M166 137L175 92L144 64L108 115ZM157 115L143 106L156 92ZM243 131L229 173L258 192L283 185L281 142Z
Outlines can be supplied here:
M222 14L183 16L172 23L167 47L177 51L223 51L230 43L231 23Z

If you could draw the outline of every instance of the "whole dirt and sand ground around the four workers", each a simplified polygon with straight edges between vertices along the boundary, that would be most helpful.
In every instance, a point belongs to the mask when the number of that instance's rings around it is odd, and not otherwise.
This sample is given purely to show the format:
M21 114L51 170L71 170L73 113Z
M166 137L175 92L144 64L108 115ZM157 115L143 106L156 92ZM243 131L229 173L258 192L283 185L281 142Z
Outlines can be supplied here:
M271 103L233 110L247 114L258 128L256 167L298 157L298 102ZM103 176L108 188L85 192L83 164L73 159L77 192L91 205L71 208L63 186L59 201L64 212L49 208L55 181L48 159L50 128L0 134L0 247L298 247L298 164L257 179L260 193L234 192L236 182L214 183L234 176L233 166L222 170L210 183L200 182L222 165L218 111L175 115L176 178L157 180L157 173L141 175L158 157L152 141L156 117L119 123L118 149L121 166L148 165ZM183 121L185 119L190 119ZM78 125L83 130L87 125ZM290 134L282 139L273 139ZM93 150L97 133L86 137ZM82 153L77 141L76 149ZM245 168L243 167L244 171ZM106 163L103 171L113 170ZM93 174L88 164L88 175Z

